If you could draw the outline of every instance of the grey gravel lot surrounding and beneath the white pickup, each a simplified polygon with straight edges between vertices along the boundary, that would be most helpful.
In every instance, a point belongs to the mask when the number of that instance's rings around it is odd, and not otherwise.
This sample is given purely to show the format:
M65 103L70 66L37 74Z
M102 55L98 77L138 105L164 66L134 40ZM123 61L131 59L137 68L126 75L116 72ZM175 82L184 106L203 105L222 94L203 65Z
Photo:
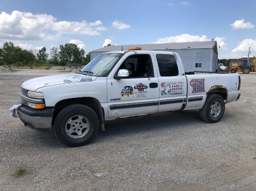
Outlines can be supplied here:
M49 72L0 74L0 191L256 190L254 73L241 74L241 98L218 123L198 111L108 121L89 145L69 148L8 111L21 83ZM19 166L27 172L15 177Z

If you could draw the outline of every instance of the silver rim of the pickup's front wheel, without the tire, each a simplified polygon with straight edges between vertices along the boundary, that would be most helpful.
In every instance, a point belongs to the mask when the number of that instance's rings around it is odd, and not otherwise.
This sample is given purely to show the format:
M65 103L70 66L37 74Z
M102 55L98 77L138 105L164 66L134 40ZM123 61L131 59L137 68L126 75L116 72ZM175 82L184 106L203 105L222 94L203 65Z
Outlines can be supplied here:
M65 125L67 135L73 139L79 139L85 136L89 129L90 123L83 115L74 115L70 117Z

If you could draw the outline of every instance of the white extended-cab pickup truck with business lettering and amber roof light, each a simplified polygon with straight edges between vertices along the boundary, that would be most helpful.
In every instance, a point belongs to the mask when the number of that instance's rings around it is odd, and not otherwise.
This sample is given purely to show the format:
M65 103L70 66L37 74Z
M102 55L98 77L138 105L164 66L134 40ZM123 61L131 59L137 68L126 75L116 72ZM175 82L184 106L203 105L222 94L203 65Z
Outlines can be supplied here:
M104 121L121 117L198 109L203 121L220 121L225 104L239 99L240 83L239 74L185 74L177 53L133 47L103 53L80 73L27 80L10 110L25 126L82 146Z

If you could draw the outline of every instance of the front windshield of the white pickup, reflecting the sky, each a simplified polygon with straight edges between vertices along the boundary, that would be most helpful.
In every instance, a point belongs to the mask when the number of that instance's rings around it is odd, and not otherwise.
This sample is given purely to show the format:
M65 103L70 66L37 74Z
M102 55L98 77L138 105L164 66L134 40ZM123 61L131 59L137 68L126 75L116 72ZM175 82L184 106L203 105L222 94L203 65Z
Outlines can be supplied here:
M112 67L123 56L121 53L106 53L95 57L81 71L87 71L92 76L107 76ZM85 73L87 74L87 73Z

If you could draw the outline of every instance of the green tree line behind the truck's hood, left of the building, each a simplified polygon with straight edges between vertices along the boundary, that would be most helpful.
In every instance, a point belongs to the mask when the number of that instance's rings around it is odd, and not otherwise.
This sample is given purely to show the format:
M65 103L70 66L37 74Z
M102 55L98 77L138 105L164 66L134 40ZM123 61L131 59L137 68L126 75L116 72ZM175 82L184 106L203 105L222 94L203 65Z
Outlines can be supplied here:
M0 48L0 65L65 66L71 63L86 65L89 62L90 52L85 55L85 51L73 43L53 47L49 53L45 47L27 51L19 46L14 46L12 42L5 42Z

